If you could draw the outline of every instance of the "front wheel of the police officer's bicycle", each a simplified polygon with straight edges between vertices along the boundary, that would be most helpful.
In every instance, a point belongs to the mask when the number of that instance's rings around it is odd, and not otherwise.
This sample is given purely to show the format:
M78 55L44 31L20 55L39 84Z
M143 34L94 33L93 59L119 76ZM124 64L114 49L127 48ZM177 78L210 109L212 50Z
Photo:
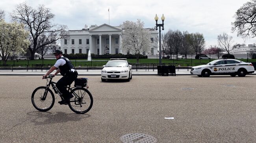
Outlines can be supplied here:
M31 96L31 101L35 109L45 112L50 110L53 105L54 105L54 94L50 89L47 89L47 95L46 98L44 99L44 93L45 93L46 87L37 87ZM50 94L49 94L50 92Z

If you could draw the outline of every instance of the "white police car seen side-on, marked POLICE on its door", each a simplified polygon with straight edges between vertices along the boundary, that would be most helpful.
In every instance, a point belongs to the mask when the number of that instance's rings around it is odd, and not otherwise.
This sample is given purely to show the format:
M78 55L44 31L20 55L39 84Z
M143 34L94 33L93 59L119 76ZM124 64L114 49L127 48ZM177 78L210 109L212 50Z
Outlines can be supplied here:
M190 74L200 77L209 77L210 75L245 76L253 72L254 67L252 63L245 63L234 59L221 59L211 61L206 65L192 67Z

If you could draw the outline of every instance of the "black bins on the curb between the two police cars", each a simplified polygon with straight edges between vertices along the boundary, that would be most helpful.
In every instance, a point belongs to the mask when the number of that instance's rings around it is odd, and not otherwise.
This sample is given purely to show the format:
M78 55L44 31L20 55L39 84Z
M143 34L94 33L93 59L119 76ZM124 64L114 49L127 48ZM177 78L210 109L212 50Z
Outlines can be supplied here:
M176 67L175 65L158 65L157 74L159 76L176 76Z

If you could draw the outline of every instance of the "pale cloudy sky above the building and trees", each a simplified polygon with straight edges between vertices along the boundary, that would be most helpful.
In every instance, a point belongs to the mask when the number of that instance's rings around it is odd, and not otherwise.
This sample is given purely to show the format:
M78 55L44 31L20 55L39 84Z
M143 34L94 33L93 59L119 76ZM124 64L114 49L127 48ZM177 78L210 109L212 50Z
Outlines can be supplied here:
M256 38L243 39L231 33L231 22L237 9L249 0L1 0L0 9L9 13L27 2L36 8L45 5L55 14L54 23L67 25L69 30L80 30L84 25L109 24L118 26L124 21L141 19L145 28L156 25L154 17L164 14L163 32L169 29L204 34L206 47L217 45L217 35L227 33L234 43L256 43ZM109 13L108 13L109 8ZM110 20L109 20L110 15Z

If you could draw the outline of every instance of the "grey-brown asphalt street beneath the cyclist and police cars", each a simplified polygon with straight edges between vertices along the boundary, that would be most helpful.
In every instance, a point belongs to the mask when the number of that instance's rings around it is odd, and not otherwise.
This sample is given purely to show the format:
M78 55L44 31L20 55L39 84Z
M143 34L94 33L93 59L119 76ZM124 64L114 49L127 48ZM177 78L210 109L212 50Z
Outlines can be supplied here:
M121 143L129 133L158 143L256 142L256 75L86 77L93 107L75 114L58 95L48 112L33 107L33 90L46 84L42 76L0 76L0 142Z

